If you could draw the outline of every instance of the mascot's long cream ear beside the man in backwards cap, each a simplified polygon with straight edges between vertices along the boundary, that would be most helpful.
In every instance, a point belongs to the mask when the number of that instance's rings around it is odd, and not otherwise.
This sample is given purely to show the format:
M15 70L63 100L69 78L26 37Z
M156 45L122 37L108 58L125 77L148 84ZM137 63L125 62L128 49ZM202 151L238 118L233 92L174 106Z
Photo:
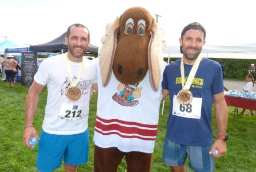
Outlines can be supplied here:
M150 84L155 90L159 89L160 86L163 49L165 49L166 46L166 42L161 40L163 34L163 30L158 29L155 20L153 20L148 48L148 66Z

